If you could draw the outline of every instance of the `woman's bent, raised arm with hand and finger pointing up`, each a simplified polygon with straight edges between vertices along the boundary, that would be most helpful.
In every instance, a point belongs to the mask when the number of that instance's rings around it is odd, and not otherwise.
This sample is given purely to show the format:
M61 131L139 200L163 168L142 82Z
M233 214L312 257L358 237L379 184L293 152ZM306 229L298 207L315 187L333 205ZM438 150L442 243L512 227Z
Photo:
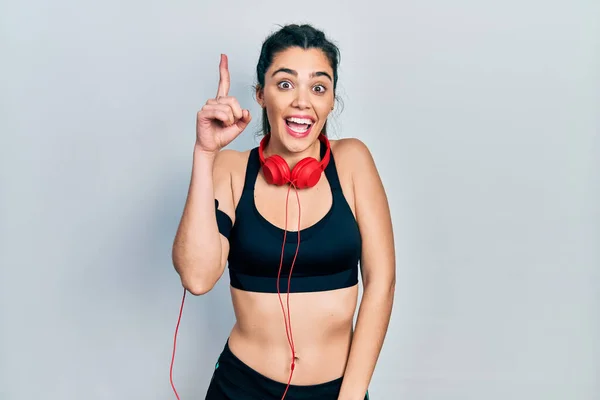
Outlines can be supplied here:
M209 99L197 115L191 181L172 250L181 283L194 295L211 290L227 262L227 231L234 222L232 152L221 149L251 120L250 112L229 96L225 55L221 55L219 73L216 98Z

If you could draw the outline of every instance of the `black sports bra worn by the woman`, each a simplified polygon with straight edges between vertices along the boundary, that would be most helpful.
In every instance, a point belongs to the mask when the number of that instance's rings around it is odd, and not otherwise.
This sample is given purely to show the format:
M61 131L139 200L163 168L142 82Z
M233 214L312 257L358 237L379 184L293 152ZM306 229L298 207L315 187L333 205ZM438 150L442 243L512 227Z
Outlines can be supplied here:
M325 154L321 143L321 158ZM219 232L230 244L231 286L251 292L277 293L284 230L267 221L256 208L254 184L261 164L258 147L250 151L244 188L236 207L235 225L217 207ZM300 247L292 270L290 293L317 292L354 286L358 283L361 235L358 223L344 197L333 154L325 176L333 203L327 214L300 231ZM280 288L287 291L290 266L296 255L297 232L287 231Z

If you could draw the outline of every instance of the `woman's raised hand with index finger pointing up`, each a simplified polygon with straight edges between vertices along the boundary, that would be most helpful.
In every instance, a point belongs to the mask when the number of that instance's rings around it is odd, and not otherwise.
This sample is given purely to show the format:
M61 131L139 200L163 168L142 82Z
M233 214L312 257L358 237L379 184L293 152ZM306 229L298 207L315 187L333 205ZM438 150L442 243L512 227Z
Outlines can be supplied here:
M196 118L196 145L207 153L217 153L238 137L250 123L249 110L243 110L235 97L229 96L229 69L225 54L219 63L217 97L209 99Z

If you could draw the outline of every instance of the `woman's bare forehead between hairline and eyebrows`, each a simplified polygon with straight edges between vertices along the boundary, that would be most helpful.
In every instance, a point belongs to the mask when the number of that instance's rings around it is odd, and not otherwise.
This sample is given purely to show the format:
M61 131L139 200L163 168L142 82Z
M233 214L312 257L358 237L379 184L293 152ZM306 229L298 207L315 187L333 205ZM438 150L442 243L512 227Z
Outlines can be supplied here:
M329 59L320 49L302 49L300 47L286 49L275 56L268 71L276 71L280 68L293 69L299 75L323 71L333 76ZM270 75L269 72L267 75Z

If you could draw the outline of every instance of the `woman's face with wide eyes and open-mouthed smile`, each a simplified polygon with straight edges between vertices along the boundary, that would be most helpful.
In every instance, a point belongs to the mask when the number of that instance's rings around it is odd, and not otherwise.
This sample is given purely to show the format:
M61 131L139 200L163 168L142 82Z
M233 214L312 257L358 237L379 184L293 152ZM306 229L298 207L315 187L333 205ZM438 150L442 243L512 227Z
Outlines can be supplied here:
M265 73L257 100L267 110L272 138L290 152L313 144L334 104L333 70L319 49L292 47L278 53Z

